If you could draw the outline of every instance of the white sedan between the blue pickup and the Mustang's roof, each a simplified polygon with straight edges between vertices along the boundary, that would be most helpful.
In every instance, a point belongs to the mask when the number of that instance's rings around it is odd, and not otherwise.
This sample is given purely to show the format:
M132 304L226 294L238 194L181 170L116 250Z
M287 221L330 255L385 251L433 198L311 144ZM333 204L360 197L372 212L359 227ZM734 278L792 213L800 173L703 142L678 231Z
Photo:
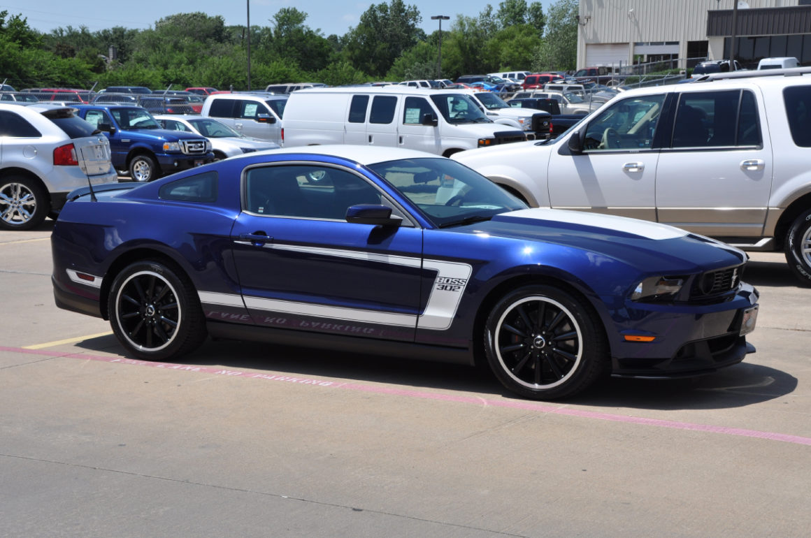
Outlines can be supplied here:
M157 114L158 123L166 130L179 130L186 133L200 134L211 141L212 152L217 160L227 159L242 153L262 152L278 149L279 144L267 140L254 139L239 134L222 122L212 117L196 115Z

